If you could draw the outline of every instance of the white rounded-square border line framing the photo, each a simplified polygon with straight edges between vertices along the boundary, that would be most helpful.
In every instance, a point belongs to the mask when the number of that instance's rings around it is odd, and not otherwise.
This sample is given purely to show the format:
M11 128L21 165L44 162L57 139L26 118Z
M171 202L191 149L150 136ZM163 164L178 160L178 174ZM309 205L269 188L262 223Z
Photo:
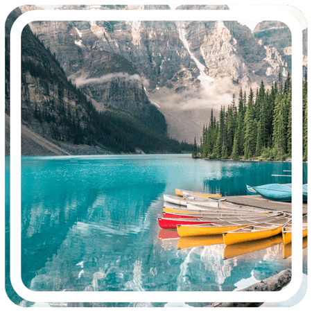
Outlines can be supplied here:
M21 31L31 21L282 21L292 33L292 279L278 292L46 292L31 291L21 280ZM30 302L283 302L302 284L302 29L280 10L32 10L10 33L10 279L16 293ZM295 125L295 127L294 127Z

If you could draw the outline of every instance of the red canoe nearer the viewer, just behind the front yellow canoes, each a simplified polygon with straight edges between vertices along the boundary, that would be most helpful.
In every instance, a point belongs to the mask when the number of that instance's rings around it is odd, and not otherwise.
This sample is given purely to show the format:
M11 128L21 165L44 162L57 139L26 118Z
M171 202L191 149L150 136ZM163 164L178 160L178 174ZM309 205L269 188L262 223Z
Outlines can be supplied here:
M275 214L274 216L277 216ZM176 229L177 225L198 225L198 224L209 224L209 223L220 223L225 221L241 221L241 220L254 220L259 219L261 216L259 214L254 215L241 215L241 216L233 216L233 215L218 215L211 214L207 215L205 218L158 218L159 227L162 229Z

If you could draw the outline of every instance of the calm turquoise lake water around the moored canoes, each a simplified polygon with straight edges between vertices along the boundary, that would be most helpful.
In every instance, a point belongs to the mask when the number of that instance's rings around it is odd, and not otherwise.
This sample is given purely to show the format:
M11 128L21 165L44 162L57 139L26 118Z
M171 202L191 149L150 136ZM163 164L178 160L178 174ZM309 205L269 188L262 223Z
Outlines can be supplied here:
M5 162L8 277L10 158ZM291 182L272 177L288 171L290 163L191 155L22 157L24 284L33 291L235 291L266 279L291 268L280 241L233 257L218 242L177 250L179 239L158 240L157 216L175 188L246 195L245 184ZM9 284L10 299L21 301Z

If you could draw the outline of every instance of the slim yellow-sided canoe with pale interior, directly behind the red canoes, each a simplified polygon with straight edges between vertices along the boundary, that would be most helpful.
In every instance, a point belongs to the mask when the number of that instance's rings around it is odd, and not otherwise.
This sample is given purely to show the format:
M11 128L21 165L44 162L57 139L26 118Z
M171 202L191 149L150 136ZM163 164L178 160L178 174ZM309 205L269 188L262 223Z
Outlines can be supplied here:
M197 207L199 208L199 207ZM180 207L164 207L163 212L172 214L259 214L259 215L266 215L266 214L272 214L272 213L277 213L281 211L272 211L272 210L266 210L262 209L261 211L257 210L250 210L250 211L245 211L245 210L240 210L240 209L226 209L226 208L218 208L218 207L205 207L205 209L184 209Z

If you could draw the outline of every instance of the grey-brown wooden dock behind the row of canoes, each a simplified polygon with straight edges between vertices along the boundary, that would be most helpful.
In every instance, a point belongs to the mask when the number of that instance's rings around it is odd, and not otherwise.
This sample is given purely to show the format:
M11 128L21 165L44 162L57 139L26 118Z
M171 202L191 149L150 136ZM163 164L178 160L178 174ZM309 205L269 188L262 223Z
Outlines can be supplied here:
M236 205L242 206L252 206L263 209L270 209L275 211L284 211L291 213L292 212L292 204L291 202L275 202L272 200L267 200L263 198L261 195L247 195L247 196L225 196L220 197L218 199L227 198L227 202L232 202ZM302 213L308 213L308 204L302 204ZM295 209L295 208L294 208Z

